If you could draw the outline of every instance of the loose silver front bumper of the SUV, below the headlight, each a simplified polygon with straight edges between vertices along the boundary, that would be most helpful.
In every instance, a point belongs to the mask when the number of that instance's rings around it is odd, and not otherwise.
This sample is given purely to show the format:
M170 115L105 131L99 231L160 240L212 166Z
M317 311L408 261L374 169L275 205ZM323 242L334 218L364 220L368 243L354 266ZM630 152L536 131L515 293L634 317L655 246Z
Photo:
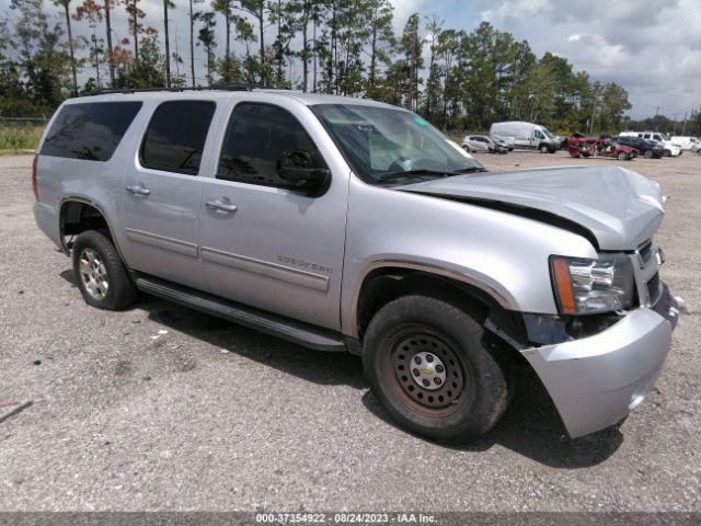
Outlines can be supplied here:
M571 437L628 415L662 370L678 310L664 288L654 309L639 308L594 336L522 351Z

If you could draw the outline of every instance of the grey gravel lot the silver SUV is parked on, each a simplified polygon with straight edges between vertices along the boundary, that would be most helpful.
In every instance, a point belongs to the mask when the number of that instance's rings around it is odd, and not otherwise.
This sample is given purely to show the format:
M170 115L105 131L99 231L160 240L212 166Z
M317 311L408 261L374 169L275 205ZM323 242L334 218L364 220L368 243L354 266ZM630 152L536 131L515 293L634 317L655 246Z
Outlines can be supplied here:
M478 156L491 169L619 161ZM663 278L685 300L666 368L620 430L577 441L539 382L486 437L395 428L360 359L151 297L85 306L35 227L31 157L0 158L0 511L699 511L701 157L621 164L660 182Z

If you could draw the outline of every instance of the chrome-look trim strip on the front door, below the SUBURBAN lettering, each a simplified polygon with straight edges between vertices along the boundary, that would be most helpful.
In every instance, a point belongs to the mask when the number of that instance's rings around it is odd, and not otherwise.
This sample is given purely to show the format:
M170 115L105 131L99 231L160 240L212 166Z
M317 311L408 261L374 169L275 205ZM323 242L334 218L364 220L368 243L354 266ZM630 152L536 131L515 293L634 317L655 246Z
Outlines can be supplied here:
M300 271L298 268L290 268L289 266L255 260L253 258L211 249L209 247L203 247L200 252L203 261L229 266L231 268L249 272L258 276L269 277L298 287L310 288L320 293L329 291L330 278L327 276Z

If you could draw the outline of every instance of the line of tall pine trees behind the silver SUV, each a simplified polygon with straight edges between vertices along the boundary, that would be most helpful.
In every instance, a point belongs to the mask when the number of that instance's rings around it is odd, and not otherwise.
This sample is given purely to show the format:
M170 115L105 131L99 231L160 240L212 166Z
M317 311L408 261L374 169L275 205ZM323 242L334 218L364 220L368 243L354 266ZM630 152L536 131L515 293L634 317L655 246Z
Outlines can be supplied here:
M395 33L389 0L162 0L162 18L147 20L140 1L11 0L0 20L0 115L47 114L101 88L245 83L375 99L450 130L505 119L584 133L631 124L623 87L538 56L487 22L467 32L415 13ZM184 50L180 38L173 46L173 12L187 21ZM117 37L116 20L128 35ZM701 132L698 114L689 125Z

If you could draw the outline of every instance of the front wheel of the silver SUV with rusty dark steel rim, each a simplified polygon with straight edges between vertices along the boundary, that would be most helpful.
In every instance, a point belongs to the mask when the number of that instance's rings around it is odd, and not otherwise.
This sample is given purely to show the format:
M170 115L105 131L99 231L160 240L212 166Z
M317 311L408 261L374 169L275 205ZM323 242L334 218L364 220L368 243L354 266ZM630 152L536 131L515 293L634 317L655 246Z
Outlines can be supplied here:
M458 307L404 296L370 321L363 344L365 374L400 426L439 442L463 442L491 430L509 402L506 375L484 341L482 327Z

